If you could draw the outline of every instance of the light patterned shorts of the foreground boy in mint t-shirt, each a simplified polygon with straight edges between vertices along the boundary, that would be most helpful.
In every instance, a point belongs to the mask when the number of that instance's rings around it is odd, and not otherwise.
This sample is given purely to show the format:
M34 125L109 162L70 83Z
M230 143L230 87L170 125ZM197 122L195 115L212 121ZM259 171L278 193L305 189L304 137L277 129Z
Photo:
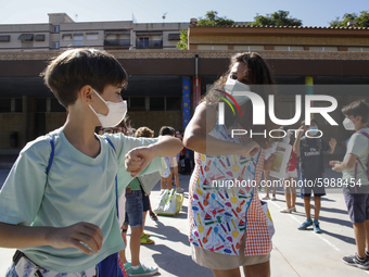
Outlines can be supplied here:
M28 257L22 256L20 261L16 263L12 263L12 265L8 268L5 277L96 277L97 268L96 266L80 272L80 273L56 273L44 269L40 266L35 265Z

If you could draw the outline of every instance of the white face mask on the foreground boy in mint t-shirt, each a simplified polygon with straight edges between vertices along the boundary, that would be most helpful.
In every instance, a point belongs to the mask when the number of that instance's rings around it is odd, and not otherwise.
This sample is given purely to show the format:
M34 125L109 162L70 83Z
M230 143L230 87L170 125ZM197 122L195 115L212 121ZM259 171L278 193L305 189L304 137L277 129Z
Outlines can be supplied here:
M123 102L105 101L94 89L92 90L106 104L107 110L109 110L107 114L103 115L103 114L97 113L93 110L93 108L89 105L92 112L98 116L101 123L101 126L103 128L107 128L107 127L114 127L118 125L127 113L127 101L123 101Z

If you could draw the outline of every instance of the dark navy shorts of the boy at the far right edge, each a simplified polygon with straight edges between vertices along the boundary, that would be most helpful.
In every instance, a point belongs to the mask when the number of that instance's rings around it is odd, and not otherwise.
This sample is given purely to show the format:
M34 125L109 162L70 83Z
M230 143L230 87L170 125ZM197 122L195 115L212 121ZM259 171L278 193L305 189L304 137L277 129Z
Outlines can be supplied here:
M352 223L365 223L369 219L369 186L343 187L347 212Z

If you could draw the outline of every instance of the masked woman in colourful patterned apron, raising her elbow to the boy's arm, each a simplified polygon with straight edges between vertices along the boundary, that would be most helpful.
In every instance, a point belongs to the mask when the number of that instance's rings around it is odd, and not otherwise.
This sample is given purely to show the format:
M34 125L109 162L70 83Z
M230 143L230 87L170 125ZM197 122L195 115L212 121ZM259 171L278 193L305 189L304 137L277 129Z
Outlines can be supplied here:
M257 53L232 56L228 72L198 105L184 133L184 147L195 151L189 188L192 259L215 277L241 276L240 266L245 276L270 276L273 227L255 187L263 169L270 169L272 159L265 162L270 142L263 134L275 126L263 109L253 111L250 98L236 91L249 91L250 97L255 91L266 103L271 86L257 85L272 84ZM257 116L266 116L266 124L253 125Z

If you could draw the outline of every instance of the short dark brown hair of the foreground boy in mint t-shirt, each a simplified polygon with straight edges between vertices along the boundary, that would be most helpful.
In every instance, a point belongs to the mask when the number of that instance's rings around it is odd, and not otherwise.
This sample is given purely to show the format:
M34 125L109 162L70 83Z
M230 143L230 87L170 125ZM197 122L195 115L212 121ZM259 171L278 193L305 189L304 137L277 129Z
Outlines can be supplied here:
M107 85L126 87L128 81L120 63L96 49L66 50L49 63L41 76L64 108L76 102L77 91L86 85L102 93Z

